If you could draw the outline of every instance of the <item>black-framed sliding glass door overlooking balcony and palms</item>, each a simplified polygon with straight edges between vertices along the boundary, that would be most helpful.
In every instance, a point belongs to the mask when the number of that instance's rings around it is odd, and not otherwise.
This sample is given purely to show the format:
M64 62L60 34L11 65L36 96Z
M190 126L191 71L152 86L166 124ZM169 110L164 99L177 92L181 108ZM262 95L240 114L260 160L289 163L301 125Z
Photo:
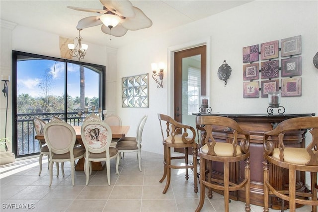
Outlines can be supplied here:
M79 125L79 111L95 106L97 112L105 106L105 66L14 51L12 69L16 157L40 151L34 117L49 121L58 116Z

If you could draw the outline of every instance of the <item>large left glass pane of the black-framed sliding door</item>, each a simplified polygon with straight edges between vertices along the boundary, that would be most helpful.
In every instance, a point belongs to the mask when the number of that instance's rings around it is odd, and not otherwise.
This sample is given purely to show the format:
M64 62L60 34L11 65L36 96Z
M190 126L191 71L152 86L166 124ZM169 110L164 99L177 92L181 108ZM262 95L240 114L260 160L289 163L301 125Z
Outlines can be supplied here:
M17 155L39 152L33 141L32 119L38 116L46 121L50 115L64 114L65 63L34 57L18 57L17 79ZM27 121L26 121L27 120Z

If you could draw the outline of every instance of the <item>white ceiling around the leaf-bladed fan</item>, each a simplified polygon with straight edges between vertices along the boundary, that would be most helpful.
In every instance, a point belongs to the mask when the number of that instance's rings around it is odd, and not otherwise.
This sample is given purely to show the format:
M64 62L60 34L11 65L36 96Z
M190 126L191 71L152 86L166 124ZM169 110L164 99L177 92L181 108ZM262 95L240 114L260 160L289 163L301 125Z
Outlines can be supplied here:
M153 21L147 29L128 31L122 37L104 34L100 26L81 31L83 43L89 42L118 48L159 32L231 9L252 0L131 0ZM99 0L0 0L0 18L19 25L58 34L78 37L76 25L81 18L97 15L67 6L102 9Z

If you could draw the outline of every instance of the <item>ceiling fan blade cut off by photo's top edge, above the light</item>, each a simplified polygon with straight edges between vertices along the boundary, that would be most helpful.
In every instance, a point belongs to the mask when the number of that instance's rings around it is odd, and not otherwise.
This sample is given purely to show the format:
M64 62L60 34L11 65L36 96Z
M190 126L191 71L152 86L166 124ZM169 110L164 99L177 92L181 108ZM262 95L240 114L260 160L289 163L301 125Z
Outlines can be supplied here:
M116 10L116 14L124 17L134 17L133 4L129 0L100 0L109 10Z

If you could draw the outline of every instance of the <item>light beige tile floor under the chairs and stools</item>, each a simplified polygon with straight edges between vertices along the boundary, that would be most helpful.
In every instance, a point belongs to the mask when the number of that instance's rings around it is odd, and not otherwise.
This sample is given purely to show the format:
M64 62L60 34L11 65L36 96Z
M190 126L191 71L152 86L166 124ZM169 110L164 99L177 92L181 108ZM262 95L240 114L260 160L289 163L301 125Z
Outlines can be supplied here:
M142 172L138 169L136 153L126 153L115 174L115 160L111 161L111 185L108 186L106 169L93 171L88 186L83 171L75 172L75 186L71 182L70 163L65 163L65 176L56 176L53 170L52 187L49 185L47 157L39 172L39 158L20 159L0 166L1 212L194 212L199 203L199 192L193 192L193 175L188 181L184 170L172 170L170 187L159 183L163 174L163 156L142 152ZM55 165L54 165L55 167ZM231 201L231 212L244 212L244 203ZM11 207L11 209L8 209ZM15 208L15 209L12 209ZM21 209L28 207L29 209ZM206 197L202 212L223 212L224 198L213 194ZM262 212L263 207L251 205L251 212ZM278 212L277 210L270 210ZM297 212L310 212L309 207Z

